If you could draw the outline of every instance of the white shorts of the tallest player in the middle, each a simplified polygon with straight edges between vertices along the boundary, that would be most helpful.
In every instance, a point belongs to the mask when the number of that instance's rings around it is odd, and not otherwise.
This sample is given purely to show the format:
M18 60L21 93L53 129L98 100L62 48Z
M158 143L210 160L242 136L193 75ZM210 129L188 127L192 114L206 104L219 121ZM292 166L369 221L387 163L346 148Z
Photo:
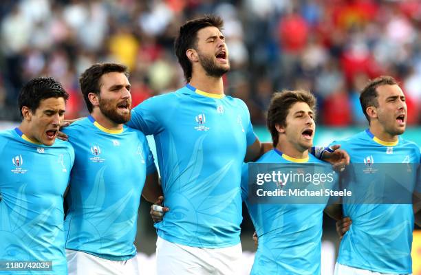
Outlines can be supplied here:
M157 274L215 274L241 273L241 243L229 248L193 248L165 241L156 241Z

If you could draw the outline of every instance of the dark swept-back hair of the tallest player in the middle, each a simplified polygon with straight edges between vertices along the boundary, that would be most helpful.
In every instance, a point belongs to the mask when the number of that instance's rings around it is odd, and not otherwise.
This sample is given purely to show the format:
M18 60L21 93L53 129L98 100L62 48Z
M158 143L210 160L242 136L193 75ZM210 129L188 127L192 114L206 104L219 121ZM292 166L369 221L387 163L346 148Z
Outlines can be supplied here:
M192 65L186 56L188 49L197 49L197 32L206 27L216 27L222 30L224 21L221 17L206 15L203 18L187 21L180 27L180 32L174 42L175 55L180 63L184 78L189 82L191 80Z

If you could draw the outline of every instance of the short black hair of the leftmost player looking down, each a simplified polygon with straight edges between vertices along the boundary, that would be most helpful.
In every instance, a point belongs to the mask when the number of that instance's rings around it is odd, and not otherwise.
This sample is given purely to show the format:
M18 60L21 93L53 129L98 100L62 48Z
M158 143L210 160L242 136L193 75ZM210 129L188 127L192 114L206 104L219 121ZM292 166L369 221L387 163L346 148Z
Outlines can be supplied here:
M28 107L33 113L38 109L41 100L47 98L64 98L66 101L69 94L61 84L52 77L32 78L23 85L18 96L18 107L23 118L22 107Z

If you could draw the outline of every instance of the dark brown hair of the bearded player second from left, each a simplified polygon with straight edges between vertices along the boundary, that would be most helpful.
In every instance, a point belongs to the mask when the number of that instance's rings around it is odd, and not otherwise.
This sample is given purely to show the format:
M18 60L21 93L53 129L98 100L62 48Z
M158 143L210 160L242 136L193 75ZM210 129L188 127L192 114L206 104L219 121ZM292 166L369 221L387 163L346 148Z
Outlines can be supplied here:
M100 94L100 78L103 74L108 73L123 73L129 77L129 72L127 72L127 67L122 64L117 63L96 63L91 67L87 68L85 72L79 78L80 90L83 94L83 99L86 102L86 107L91 113L93 107L89 101L88 94L94 93Z

